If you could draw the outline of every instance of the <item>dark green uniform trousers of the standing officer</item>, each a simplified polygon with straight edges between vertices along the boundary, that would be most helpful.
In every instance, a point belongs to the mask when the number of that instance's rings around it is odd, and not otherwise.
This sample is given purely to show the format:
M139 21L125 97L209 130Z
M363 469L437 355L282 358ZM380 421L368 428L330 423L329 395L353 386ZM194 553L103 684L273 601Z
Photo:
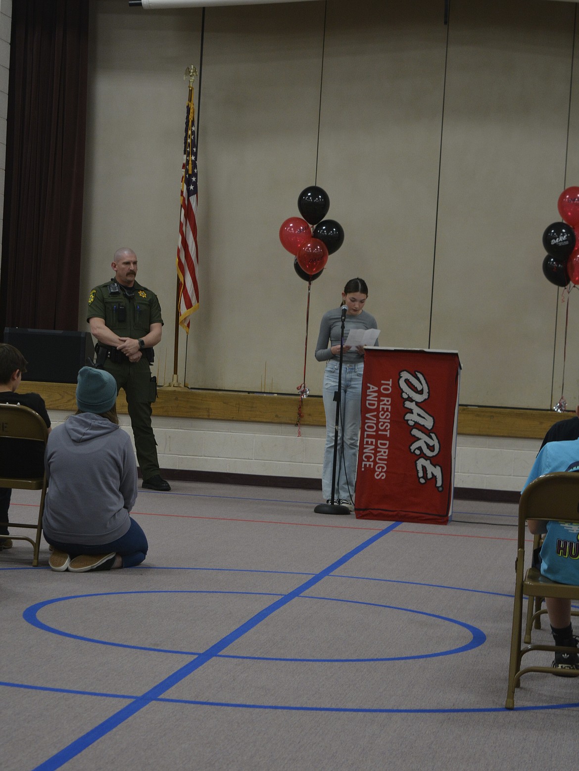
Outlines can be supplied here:
M131 364L126 362L104 363L104 369L113 375L117 381L117 393L124 389L127 396L130 425L133 429L137 460L141 467L141 475L144 480L159 473L159 461L157 459L157 442L155 441L153 427L151 426L151 369L149 362L142 357L141 361Z

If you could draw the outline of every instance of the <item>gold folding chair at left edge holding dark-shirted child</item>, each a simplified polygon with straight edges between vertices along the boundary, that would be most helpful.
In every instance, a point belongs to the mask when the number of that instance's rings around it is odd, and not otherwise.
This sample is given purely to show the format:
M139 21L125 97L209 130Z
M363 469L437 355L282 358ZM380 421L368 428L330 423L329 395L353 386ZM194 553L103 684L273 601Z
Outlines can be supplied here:
M29 407L19 404L0 404L0 442L2 442L2 452L10 453L10 446L13 440L26 439L29 442L42 443L42 448L46 447L48 439L48 429L46 423ZM6 455L5 455L6 456ZM44 512L44 499L46 497L46 473L44 464L39 465L38 476L4 476L5 470L0 466L0 487L12 487L16 490L42 490L40 495L40 506L38 521L36 524L22 524L10 522L9 527L29 527L36 530L34 539L25 535L9 535L0 538L12 538L13 540L28 540L34 547L34 556L32 565L38 565L38 555L40 550L40 538L42 537L42 513ZM7 522L0 522L0 525L8 525Z

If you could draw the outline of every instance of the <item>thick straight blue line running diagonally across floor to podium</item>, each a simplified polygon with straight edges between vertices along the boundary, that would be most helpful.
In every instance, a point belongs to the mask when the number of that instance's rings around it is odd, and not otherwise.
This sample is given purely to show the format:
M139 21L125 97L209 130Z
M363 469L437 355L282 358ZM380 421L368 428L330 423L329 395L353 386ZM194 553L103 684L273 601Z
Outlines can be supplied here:
M161 682L157 683L157 685L154 685L153 688L144 692L144 694L135 699L134 702L127 704L114 715L110 715L109 718L103 720L103 722L101 722L98 726L95 726L93 729L86 732L83 736L80 736L74 742L71 742L69 746L64 747L59 752L56 752L55 755L44 761L44 763L36 766L35 771L49 771L49 769L50 771L53 771L53 769L61 768L65 763L68 763L70 759L80 755L80 753L83 752L87 747L94 744L94 742L102 739L102 737L106 736L107 733L120 726L133 715L136 715L137 712L141 712L141 709L144 709L144 707L150 705L151 702L158 699L162 694L164 694L164 692L173 688L174 685L177 685L179 682L181 682L181 680L184 680L186 677L188 677L188 675L191 675L207 662L210 662L212 658L218 655L218 653L221 653L223 650L225 650L225 648L228 648L229 645L232 645L232 643L239 640L239 638L247 634L247 632L251 631L262 621L265 621L266 618L269 618L270 615L278 611L280 608L283 608L294 598L299 597L300 594L303 594L304 591L307 591L316 584L319 584L323 578L326 578L330 573L337 570L337 568L341 567L353 557L356 557L357 554L360 554L362 551L367 549L367 547L375 544L377 540L390 533L391 530L394 530L394 528L398 527L400 524L400 522L393 522L388 527L385 527L384 530L380 530L380 532L372 535L367 540L364 540L357 547L348 551L347 554L344 554L335 562L328 565L328 567L324 567L322 571L305 581L299 587L293 589L293 591L290 591L282 598L274 601L267 608L259 611L259 613L256 613L254 616L252 616L252 618L249 618L248 621L245 621L244 624L230 632L229 635L225 635L225 637L216 642L214 645L210 645L206 651L203 651L201 654L196 656L192 662L188 662L188 664L185 664L179 668L172 675L169 675L167 678L164 678L161 680Z

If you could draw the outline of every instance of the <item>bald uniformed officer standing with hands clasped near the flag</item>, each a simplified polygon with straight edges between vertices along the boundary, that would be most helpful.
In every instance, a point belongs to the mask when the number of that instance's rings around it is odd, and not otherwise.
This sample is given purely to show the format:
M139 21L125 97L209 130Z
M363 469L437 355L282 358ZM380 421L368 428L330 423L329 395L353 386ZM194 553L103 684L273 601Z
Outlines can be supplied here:
M157 295L137 284L137 255L118 249L112 263L114 278L95 287L89 295L86 321L97 338L97 366L124 389L133 427L143 487L171 490L161 479L157 443L151 426L151 403L157 398L157 381L149 369L153 347L161 340L163 319Z

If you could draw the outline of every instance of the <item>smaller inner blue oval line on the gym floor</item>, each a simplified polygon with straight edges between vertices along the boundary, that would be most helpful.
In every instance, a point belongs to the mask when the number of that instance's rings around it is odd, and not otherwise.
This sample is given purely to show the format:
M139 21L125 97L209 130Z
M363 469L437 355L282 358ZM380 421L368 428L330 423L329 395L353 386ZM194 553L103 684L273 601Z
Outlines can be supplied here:
M83 635L74 635L72 632L63 631L61 629L57 629L56 627L51 627L48 624L46 624L44 621L40 621L38 618L39 611L42 610L42 608L46 608L49 605L55 604L57 602L63 602L66 600L79 600L79 599L86 599L86 598L93 598L93 597L107 597L107 596L118 596L122 594L246 594L246 595L252 595L256 597L283 597L283 594L279 593L273 593L273 592L265 592L265 591L225 591L225 590L218 590L218 591L212 591L208 589L177 589L174 591L171 591L169 589L164 590L152 590L152 591L113 591L113 592L100 592L98 594L76 594L71 597L65 597L65 598L53 598L52 600L44 600L42 602L36 603L34 605L30 605L29 608L26 608L24 613L22 614L22 618L25 619L25 621L28 621L29 624L32 626L41 629L42 631L48 631L53 635L61 635L62 637L71 638L73 640L80 640L83 642L91 642L97 645L110 645L115 648L130 648L132 650L137 651L152 651L155 653L169 653L169 654L177 654L177 655L188 655L188 656L196 656L199 655L199 651L181 651L181 650L173 650L169 648L151 648L145 645L129 645L128 643L122 643L122 642L112 642L109 640L102 640L99 638L90 638L85 637ZM215 656L215 658L235 658L235 659L242 659L244 661L266 661L266 662L302 662L302 663L320 663L320 664L330 664L330 663L339 663L339 664L354 664L354 663L367 663L367 662L401 662L401 661L408 661L416 658L437 658L438 656L449 656L454 655L455 653L463 653L465 651L472 650L473 648L478 648L479 645L482 645L486 641L486 635L484 632L482 632L479 628L472 626L470 624L467 624L465 621L458 621L455 618L449 618L447 616L441 616L435 613L428 613L426 611L417 611L414 608L401 608L397 605L387 605L382 604L378 602L367 602L362 600L348 600L343 598L332 598L332 597L313 597L311 594L307 594L305 596L301 595L300 597L296 598L299 600L318 600L318 601L327 601L327 602L343 602L343 603L349 603L354 605L366 605L371 608L384 608L386 610L391 611L401 611L404 613L415 613L421 616L427 616L428 618L435 618L437 621L446 621L450 624L455 624L459 627L462 627L466 629L466 631L469 631L471 635L471 639L468 643L465 645L459 645L458 648L450 648L446 651L432 651L429 653L422 653L422 654L411 654L411 655L405 655L405 656L375 656L375 657L368 657L368 658L304 658L304 657L286 657L286 656L249 656L249 655L232 655L232 654L226 654L226 653L220 653Z

